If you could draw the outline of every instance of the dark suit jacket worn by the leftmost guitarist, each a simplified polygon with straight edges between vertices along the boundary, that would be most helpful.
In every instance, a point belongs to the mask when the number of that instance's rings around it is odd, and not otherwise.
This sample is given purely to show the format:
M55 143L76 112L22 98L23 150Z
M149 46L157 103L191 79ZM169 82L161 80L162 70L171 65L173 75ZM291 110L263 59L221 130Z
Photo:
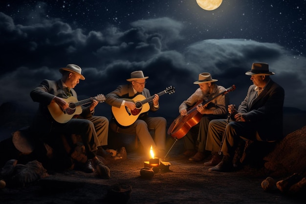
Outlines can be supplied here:
M70 91L72 96L77 98L77 93L73 89L70 89ZM30 92L30 96L33 101L39 102L39 109L34 116L31 127L42 134L50 133L52 125L57 122L52 118L47 106L51 103L54 96L68 98L63 90L61 80L52 81L44 79L38 87ZM82 107L82 113L80 115L84 118L90 117L91 113L89 106Z

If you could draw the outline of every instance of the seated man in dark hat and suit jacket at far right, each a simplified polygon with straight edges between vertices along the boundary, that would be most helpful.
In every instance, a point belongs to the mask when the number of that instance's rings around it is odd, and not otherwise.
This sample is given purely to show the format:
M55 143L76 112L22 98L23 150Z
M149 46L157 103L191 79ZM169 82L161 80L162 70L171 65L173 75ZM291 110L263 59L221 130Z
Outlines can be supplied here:
M251 70L245 74L251 76L253 85L249 87L238 111L234 105L229 105L232 118L229 122L219 119L209 124L206 150L223 154L222 160L210 171L233 169L233 156L241 138L273 142L284 137L284 89L270 79L274 73L269 71L266 63L253 63ZM213 161L210 163L214 164Z

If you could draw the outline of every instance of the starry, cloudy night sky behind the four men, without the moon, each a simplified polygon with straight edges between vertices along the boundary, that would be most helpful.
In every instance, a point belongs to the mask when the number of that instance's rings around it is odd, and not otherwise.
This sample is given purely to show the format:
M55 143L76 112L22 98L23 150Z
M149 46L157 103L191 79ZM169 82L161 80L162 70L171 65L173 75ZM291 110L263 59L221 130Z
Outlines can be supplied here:
M29 92L59 68L76 64L85 81L79 100L107 94L143 70L159 115L178 106L210 72L239 105L252 84L245 72L266 62L285 90L285 107L306 110L306 0L223 0L206 11L196 0L1 0L0 105L18 101L36 109ZM156 114L157 114L156 113ZM97 115L110 116L99 104Z

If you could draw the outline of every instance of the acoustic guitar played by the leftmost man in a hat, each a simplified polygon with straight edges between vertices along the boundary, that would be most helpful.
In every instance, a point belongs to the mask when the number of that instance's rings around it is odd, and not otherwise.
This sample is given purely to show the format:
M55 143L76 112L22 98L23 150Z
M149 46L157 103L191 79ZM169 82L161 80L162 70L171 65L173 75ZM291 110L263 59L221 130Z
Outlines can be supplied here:
M68 98L63 98L67 104L69 105L68 108L63 110L57 103L51 102L48 105L48 110L51 113L53 119L59 123L66 123L68 122L74 115L82 113L82 105L91 103L92 100L97 100L100 103L106 100L103 94L99 94L95 97L90 97L81 101L74 96L70 96Z

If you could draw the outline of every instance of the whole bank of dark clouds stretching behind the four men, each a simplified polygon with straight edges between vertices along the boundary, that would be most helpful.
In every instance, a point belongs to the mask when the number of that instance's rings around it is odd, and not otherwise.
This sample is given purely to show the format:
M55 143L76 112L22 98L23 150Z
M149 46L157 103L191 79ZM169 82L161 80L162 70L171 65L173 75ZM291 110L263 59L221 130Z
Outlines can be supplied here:
M200 72L211 72L225 88L235 84L229 94L238 105L252 84L244 72L253 62L264 61L276 73L271 78L285 89L284 105L306 110L305 57L278 44L244 39L208 39L180 47L184 29L181 22L159 18L135 21L123 31L110 26L85 32L59 19L16 25L0 12L0 104L31 103L32 88L44 78L58 79L58 69L73 63L86 76L76 87L79 99L106 94L126 83L131 71L143 70L152 94L175 87L173 95L161 97L161 113L176 116L179 104L197 89L193 82ZM103 114L109 107L101 109Z

